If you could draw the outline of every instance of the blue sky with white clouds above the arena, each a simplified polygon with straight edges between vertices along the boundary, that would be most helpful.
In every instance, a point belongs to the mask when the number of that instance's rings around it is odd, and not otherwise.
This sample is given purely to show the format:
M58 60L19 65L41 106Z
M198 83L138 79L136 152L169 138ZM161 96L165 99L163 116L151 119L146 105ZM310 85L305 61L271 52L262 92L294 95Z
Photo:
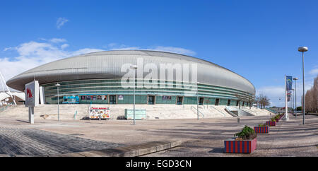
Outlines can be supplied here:
M0 69L6 80L85 52L158 49L224 66L283 105L284 74L305 88L318 74L318 1L1 1ZM18 69L17 69L18 68Z

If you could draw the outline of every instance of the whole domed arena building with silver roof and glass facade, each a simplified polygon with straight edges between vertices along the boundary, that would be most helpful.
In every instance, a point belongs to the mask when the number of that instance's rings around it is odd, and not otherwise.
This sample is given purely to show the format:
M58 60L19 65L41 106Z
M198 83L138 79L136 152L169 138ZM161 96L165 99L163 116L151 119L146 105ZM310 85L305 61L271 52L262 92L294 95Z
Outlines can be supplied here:
M137 64L138 61L143 64ZM25 84L39 81L44 90L46 104L57 104L57 86L59 83L59 103L76 104L132 104L134 86L125 88L122 78L126 73L123 66L136 65L136 104L175 104L193 105L199 99L199 105L232 105L248 106L254 99L255 88L246 78L210 61L170 52L148 50L118 50L93 52L76 57L69 57L37 66L7 81L7 85L24 91ZM175 79L165 72L165 79L151 79L142 82L149 72L145 72L147 64L158 67L166 64L172 69L190 64L189 73L196 73L195 86L188 79ZM143 69L142 69L143 68ZM141 73L139 73L141 69ZM184 68L182 68L184 69ZM150 71L150 70L149 70ZM134 71L135 72L135 71ZM141 74L141 75L140 75ZM173 75L172 74L172 75ZM182 77L184 78L184 76ZM151 88L139 86L148 84ZM129 84L131 85L131 84ZM189 86L191 85L190 89ZM189 93L190 92L190 93Z

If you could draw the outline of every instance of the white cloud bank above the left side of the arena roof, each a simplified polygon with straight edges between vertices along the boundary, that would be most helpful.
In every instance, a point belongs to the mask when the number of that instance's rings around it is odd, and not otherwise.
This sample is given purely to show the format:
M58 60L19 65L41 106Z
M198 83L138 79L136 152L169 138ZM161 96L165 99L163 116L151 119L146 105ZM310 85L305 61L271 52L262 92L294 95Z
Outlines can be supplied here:
M42 64L46 64L51 61L56 61L58 59L63 59L66 57L73 57L79 54L87 54L90 52L100 52L105 49L94 49L94 48L83 48L77 49L74 51L66 50L66 47L69 47L69 44L61 44L62 42L67 42L65 39L61 38L52 38L52 39L44 39L41 38L42 41L30 41L25 42L17 47L7 47L4 49L14 50L18 52L17 57L7 58L0 57L0 71L3 73L6 81L12 78L13 76L17 76L19 73L23 73L28 69L33 69L36 66L40 66ZM116 43L112 43L107 45L108 50L112 49L141 49L141 47L129 47L127 45L118 45ZM195 54L195 52L179 47L151 47L144 48L148 50L158 50L158 51L166 51L166 52L175 52L180 54Z

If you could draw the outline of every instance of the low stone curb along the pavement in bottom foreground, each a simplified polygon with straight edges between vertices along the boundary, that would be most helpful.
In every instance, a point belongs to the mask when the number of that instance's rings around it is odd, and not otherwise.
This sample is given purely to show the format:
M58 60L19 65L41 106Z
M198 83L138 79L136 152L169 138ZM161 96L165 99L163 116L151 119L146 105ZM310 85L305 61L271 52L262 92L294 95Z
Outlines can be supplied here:
M132 146L121 146L98 151L50 155L49 157L136 157L158 151L164 151L169 148L175 148L181 144L182 141L152 141Z

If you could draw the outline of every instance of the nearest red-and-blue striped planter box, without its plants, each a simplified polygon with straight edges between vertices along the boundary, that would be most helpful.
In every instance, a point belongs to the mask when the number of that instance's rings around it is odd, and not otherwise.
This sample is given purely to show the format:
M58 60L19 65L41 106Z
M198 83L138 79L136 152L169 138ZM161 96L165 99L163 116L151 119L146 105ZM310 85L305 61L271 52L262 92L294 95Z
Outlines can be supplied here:
M233 139L224 141L225 153L253 153L256 148L257 138L242 141L235 141Z

